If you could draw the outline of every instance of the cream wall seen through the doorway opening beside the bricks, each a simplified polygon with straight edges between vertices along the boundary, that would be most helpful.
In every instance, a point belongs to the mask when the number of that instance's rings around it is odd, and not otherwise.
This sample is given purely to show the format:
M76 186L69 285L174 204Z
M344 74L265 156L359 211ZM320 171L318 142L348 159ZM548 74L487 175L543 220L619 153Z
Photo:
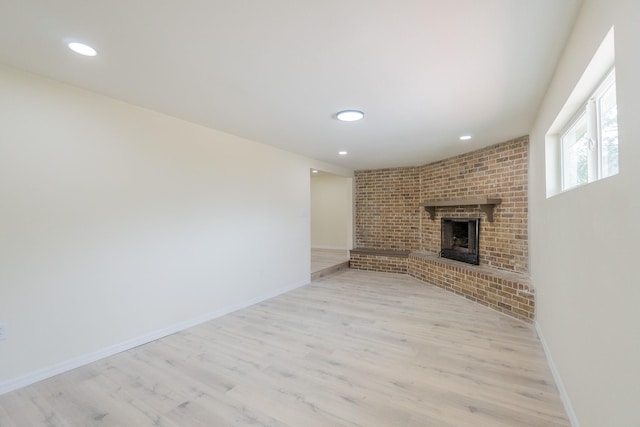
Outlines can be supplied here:
M353 178L320 172L311 176L311 247L351 249Z

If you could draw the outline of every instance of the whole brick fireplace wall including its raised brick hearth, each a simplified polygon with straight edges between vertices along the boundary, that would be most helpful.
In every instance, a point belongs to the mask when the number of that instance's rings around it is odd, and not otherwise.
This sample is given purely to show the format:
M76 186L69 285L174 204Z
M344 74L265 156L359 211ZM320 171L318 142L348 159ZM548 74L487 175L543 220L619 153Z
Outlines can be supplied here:
M423 166L357 171L351 268L410 274L531 321L528 143L524 136ZM480 218L478 266L440 257L442 218Z

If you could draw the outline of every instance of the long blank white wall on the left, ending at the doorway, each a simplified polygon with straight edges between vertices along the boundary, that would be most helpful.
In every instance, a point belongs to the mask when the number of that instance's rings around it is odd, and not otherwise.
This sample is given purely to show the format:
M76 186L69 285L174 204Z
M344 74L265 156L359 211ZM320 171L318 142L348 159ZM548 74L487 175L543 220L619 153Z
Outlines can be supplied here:
M0 392L308 283L318 166L0 67Z

